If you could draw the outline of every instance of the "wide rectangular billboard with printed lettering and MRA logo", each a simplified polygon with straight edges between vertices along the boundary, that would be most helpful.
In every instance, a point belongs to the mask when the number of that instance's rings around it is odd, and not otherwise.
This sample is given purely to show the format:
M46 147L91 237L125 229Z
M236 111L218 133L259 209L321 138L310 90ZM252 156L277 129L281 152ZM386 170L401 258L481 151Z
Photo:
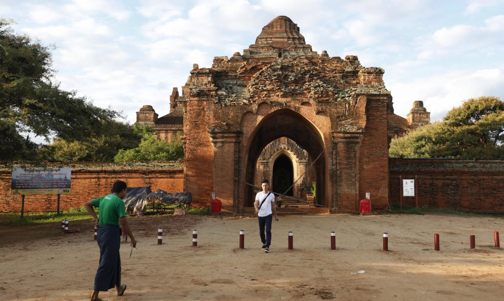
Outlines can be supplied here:
M13 168L11 195L70 194L72 170L60 167Z

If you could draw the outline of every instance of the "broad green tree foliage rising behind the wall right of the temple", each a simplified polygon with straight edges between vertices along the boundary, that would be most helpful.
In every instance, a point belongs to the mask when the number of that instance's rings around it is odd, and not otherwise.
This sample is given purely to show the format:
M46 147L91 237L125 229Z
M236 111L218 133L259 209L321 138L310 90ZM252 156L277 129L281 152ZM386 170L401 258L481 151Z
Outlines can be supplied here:
M468 99L443 122L394 139L389 156L504 159L504 102L493 96Z

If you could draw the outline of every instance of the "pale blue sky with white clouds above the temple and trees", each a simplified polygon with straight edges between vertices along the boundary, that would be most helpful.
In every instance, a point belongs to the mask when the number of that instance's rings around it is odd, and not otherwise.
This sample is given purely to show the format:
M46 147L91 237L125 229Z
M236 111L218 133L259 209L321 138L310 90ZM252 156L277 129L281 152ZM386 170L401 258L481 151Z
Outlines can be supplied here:
M54 44L55 80L94 104L169 112L192 64L243 53L278 15L313 50L385 69L395 113L423 100L440 120L463 100L504 98L504 0L0 0L20 34Z

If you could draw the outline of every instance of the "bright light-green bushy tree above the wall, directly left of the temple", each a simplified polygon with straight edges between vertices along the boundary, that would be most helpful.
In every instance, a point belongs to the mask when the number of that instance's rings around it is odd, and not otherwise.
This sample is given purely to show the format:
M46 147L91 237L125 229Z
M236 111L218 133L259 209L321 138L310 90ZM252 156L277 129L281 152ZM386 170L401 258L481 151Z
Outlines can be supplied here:
M181 141L182 133L172 137L170 142L156 139L152 132L146 131L137 148L120 150L114 160L126 161L171 161L184 157Z

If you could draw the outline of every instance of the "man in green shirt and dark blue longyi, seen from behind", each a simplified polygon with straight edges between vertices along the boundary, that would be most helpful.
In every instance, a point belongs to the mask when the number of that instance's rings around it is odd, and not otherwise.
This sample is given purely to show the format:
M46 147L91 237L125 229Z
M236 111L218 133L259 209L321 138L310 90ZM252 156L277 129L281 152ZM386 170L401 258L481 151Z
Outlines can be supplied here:
M126 220L126 208L123 202L126 189L125 182L116 181L112 186L112 194L84 204L98 225L97 241L100 247L100 265L96 271L91 301L101 300L98 298L100 291L116 287L117 294L122 296L126 290L126 284L121 285L121 257L119 256L122 231L131 238L132 247L136 247L136 240ZM99 208L99 218L93 207ZM123 226L122 230L119 224Z

